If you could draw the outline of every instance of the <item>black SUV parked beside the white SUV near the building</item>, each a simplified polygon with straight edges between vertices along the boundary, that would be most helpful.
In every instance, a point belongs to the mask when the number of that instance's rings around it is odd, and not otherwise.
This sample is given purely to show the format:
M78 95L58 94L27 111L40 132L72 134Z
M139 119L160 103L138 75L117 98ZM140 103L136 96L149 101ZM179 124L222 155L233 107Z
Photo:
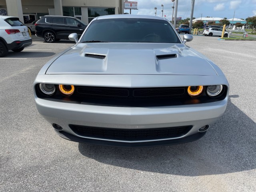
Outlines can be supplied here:
M82 35L88 24L78 18L68 16L42 16L36 22L36 36L43 37L48 43L68 39L71 33Z

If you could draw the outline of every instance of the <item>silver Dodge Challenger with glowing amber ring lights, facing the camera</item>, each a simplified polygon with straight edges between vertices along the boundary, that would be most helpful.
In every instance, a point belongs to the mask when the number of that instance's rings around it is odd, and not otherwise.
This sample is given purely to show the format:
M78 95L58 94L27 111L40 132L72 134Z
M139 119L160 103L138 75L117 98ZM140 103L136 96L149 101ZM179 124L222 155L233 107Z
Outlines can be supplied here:
M94 18L34 81L38 112L62 138L145 147L197 140L222 116L229 84L163 17Z

